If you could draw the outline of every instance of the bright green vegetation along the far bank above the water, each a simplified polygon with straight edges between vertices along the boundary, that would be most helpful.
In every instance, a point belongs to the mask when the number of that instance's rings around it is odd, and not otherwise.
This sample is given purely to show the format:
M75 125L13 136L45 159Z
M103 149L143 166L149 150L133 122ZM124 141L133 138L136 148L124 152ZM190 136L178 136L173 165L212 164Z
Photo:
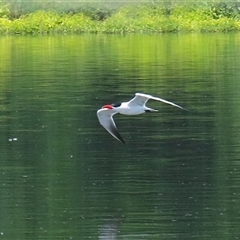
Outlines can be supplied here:
M1 34L226 32L240 30L239 3L144 3L27 9L0 3Z

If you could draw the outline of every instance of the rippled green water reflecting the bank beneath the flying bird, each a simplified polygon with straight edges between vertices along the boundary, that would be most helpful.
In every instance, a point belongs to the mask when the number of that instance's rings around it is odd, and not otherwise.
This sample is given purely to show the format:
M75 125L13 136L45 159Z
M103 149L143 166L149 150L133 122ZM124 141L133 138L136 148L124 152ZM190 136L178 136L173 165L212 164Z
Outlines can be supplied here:
M1 239L239 239L240 34L0 39ZM173 101L116 115L144 92Z

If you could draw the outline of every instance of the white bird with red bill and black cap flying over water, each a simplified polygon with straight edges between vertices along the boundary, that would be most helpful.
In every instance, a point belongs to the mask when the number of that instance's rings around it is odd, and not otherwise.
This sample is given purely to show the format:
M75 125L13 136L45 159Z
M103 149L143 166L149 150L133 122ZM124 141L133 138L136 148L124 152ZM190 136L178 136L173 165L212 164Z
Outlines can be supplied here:
M161 101L167 104L170 104L172 106L181 108L183 110L186 110L185 108L169 102L167 100L164 100L162 98L153 97L148 94L144 93L135 93L135 97L128 101L128 102L122 102L122 103L113 103L104 105L101 109L97 111L97 117L100 122L100 124L118 141L125 144L125 141L123 140L122 136L117 130L116 124L113 120L113 115L120 113L124 115L138 115L145 112L157 112L158 110L149 108L146 106L146 102L149 100L156 100Z

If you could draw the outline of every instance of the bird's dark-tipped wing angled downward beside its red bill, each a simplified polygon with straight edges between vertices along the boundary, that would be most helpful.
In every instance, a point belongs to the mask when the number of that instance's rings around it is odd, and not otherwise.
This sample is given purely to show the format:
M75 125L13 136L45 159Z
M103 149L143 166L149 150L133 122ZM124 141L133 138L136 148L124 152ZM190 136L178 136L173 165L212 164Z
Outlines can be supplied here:
M97 117L100 122L100 124L118 141L125 144L125 141L123 140L122 136L117 130L116 124L113 120L113 115L117 112L112 109L99 109L97 111Z

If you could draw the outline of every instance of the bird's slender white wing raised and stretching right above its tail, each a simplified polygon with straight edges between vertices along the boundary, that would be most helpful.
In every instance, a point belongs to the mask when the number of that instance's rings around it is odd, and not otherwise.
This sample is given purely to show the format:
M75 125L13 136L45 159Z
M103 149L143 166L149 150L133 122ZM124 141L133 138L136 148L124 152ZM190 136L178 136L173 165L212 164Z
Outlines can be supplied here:
M149 94L144 94L144 93L135 93L135 97L129 102L130 104L137 104L137 105L145 105L146 102L149 100L149 99L152 99L152 100L156 100L156 101L160 101L160 102L163 102L163 103L167 103L167 104L170 104L174 107L178 107L178 108L181 108L183 110L187 110L173 102L169 102L167 100L164 100L162 98L158 98L158 97L154 97L152 95L149 95Z

